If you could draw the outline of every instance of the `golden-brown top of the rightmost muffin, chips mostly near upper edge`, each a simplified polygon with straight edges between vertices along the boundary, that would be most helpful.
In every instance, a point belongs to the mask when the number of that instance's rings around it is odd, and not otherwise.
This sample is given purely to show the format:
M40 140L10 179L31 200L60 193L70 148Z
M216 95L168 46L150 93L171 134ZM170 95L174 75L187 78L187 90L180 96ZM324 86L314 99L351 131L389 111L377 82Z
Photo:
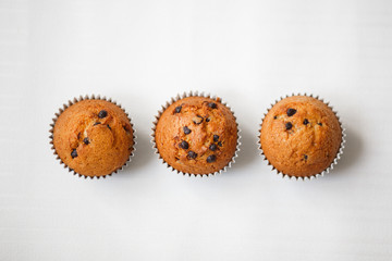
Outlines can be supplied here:
M334 160L342 128L322 101L293 96L279 101L262 121L260 144L267 160L289 176L313 176Z

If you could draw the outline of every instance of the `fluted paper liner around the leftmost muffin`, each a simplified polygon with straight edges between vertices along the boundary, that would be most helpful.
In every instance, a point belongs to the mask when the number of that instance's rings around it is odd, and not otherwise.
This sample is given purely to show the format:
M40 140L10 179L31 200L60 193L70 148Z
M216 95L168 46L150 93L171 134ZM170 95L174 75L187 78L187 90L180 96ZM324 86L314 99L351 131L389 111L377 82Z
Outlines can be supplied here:
M118 105L126 115L126 117L130 120L130 124L131 124L131 127L133 129L133 146L132 146L132 152L127 159L127 161L119 169L117 169L115 171L113 171L112 173L110 174L107 174L107 175L102 175L102 176L87 176L87 175L83 175L83 174L79 174L77 172L75 172L73 169L69 167L61 159L60 159L60 156L57 153L56 151L56 148L54 148L54 145L53 145L53 130L54 130L54 124L57 122L57 120L59 119L59 116L61 115L61 113L63 111L65 111L66 108L71 107L72 104L76 103L76 102L79 102L79 101L83 101L83 100L106 100L106 101L109 101L111 103L113 103L114 105ZM50 124L50 129L49 129L49 133L50 133L50 145L51 145L51 149L53 150L53 154L57 156L57 160L60 161L60 164L63 164L64 165L64 169L68 169L69 172L73 172L74 175L78 175L79 177L84 177L84 178L87 178L89 177L90 179L94 179L94 178L97 178L99 179L100 177L102 178L106 178L107 176L111 176L112 174L117 174L119 171L123 170L132 160L132 158L134 157L135 154L135 151L136 151L136 129L134 128L134 125L132 123L132 119L130 117L128 113L121 107L120 103L117 103L115 101L113 101L111 98L107 99L105 96L103 97L100 97L99 95L98 96L95 96L95 95L91 95L91 96L85 96L85 97L82 97L79 96L78 98L74 98L72 101L69 100L68 103L64 103L62 108L59 109L59 112L54 113L54 116L52 119L53 123Z

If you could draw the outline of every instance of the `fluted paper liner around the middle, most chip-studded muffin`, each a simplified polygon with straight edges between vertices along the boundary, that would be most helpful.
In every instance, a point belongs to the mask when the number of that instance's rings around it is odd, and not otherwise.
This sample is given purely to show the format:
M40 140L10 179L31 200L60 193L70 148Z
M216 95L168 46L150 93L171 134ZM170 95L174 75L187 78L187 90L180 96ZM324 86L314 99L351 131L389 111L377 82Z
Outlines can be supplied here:
M235 152L234 152L234 156L232 157L231 161L221 170L217 171L217 172L213 172L213 173L208 173L208 174L192 174L192 173L186 173L186 172L182 172L182 171L179 171L179 170L175 170L173 166L171 166L168 162L166 162L163 160L163 158L160 156L159 151L158 151L158 148L157 148L157 144L155 141L155 133L156 133L156 128L157 128L157 124L158 124L158 121L160 119L160 116L162 115L162 113L171 105L173 104L175 101L177 100L181 100L181 99L184 99L184 98L187 98L187 97L205 97L205 98L210 98L210 99L217 99L217 96L211 96L209 94L204 94L204 92L198 92L198 91L189 91L189 92L184 92L183 95L177 95L175 98L171 98L170 101L167 101L167 103L164 105L162 105L162 109L158 111L158 115L155 116L155 121L154 121L154 125L152 125L152 134L151 134L151 144L152 144L152 149L155 150L156 154L158 154L158 158L160 160L162 160L162 163L167 165L168 169L171 169L172 172L176 172L177 174L183 174L184 176L185 175L188 175L188 176L200 176L200 177L209 177L209 176L215 176L217 174L222 174L223 172L226 172L231 166L232 164L235 163L235 158L238 157L238 151L240 151L240 146L241 146L241 129L238 127L238 123L236 121L236 116L234 114L234 111L231 109L231 107L226 103L226 102L223 102L222 100L220 101L220 103L222 103L223 105L225 105L226 108L229 108L229 110L231 111L231 113L233 114L234 116L234 120L235 120L235 124L236 124L236 127L237 127L237 144L236 144L236 148L235 148Z

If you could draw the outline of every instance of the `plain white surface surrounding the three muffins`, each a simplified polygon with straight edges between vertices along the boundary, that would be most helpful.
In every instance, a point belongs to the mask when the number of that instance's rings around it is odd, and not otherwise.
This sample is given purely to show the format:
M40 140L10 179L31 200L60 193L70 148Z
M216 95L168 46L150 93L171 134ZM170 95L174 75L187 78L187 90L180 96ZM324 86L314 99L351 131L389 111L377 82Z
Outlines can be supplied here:
M0 260L391 260L391 1L0 0ZM177 92L223 98L242 151L210 178L151 149ZM335 170L281 179L257 130L280 96L329 100L347 128ZM90 181L54 160L49 124L101 94L133 117L137 150Z

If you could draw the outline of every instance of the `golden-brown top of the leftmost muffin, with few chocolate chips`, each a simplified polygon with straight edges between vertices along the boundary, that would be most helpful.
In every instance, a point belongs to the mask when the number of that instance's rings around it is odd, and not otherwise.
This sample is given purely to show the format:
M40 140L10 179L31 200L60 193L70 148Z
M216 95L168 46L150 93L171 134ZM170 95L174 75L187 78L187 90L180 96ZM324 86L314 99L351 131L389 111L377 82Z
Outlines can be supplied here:
M120 169L133 150L126 113L106 100L82 100L66 108L53 128L53 147L62 162L84 176Z

